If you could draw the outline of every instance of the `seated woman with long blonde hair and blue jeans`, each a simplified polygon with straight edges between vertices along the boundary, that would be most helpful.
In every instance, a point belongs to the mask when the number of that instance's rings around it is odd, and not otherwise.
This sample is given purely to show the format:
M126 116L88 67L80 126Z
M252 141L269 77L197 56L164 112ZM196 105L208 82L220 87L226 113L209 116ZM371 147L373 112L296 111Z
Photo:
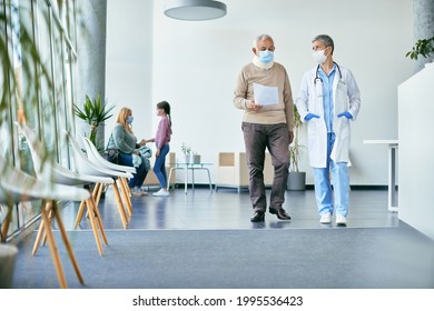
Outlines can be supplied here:
M132 195L141 197L148 194L141 190L141 185L144 184L150 165L149 160L142 159L139 151L139 148L147 143L147 140L142 139L140 142L137 142L137 138L132 132L132 120L131 109L126 107L120 109L107 148L119 150L119 164L136 167L136 173L129 180L129 187L131 188Z

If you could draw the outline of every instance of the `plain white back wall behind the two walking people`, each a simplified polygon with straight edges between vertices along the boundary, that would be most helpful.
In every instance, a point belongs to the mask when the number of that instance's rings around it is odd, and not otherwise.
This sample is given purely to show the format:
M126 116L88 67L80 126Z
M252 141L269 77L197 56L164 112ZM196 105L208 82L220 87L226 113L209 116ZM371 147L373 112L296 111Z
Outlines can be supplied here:
M126 77L138 79L132 83L140 87L129 88L129 96L145 94L146 100L122 102L134 107L136 120L140 112L146 127L135 122L139 136L148 137L148 122L154 136L155 104L167 100L172 109L172 151L180 153L186 142L209 162L219 151L243 151L241 111L233 106L233 91L239 69L253 58L254 38L274 37L275 59L287 68L295 97L303 73L313 67L312 38L327 33L335 40L335 60L352 69L362 92L362 110L353 123L352 184L387 184L387 151L363 140L397 138L397 86L413 72L404 57L413 46L412 0L225 0L226 17L199 22L167 18L165 1L155 0L151 24L149 1L129 0L137 7L131 10L131 4L128 13L119 2L108 1L107 94L117 98L119 91L121 97L130 81ZM127 38L114 32L115 24L127 31L131 20L140 31ZM120 54L119 46L129 51L128 66L111 63L114 53ZM150 64L151 83L144 70ZM312 184L307 160L306 156L302 168ZM207 182L205 175L196 179Z

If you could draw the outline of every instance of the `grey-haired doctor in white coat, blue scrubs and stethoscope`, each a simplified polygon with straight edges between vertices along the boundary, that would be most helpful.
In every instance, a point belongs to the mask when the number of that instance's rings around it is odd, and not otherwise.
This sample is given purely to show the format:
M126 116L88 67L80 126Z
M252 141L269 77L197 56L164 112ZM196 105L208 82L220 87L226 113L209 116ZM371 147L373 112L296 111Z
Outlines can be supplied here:
M346 225L349 123L357 118L361 94L352 72L333 61L333 39L319 34L312 44L316 66L304 74L296 106L302 121L307 122L308 153L314 170L319 221L328 224L335 213L336 225Z

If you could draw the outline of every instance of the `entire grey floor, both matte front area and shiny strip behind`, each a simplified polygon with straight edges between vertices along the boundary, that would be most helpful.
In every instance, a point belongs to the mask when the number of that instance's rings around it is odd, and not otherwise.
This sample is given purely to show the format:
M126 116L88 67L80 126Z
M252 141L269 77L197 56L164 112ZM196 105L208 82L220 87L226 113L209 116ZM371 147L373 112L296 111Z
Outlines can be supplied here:
M62 211L86 285L59 251L70 288L434 288L434 241L387 211L386 191L353 190L346 228L320 224L314 201L312 190L287 192L292 221L267 213L254 224L248 192L177 189L132 198L124 229L108 191L102 257L86 219L72 228L78 205ZM34 235L20 243L13 287L57 288L41 272L52 269L47 248L30 255Z

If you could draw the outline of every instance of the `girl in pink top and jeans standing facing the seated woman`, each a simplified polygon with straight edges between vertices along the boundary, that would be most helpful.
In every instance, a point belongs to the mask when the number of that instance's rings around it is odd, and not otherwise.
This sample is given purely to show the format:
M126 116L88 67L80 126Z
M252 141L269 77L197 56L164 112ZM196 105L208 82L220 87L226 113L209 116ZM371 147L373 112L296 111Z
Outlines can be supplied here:
M161 119L158 123L157 133L154 139L157 147L157 151L155 153L156 161L154 164L154 172L158 178L161 189L157 192L154 192L154 195L168 197L169 189L166 172L166 156L170 150L169 142L171 137L171 118L170 104L167 101L157 103L157 116Z

